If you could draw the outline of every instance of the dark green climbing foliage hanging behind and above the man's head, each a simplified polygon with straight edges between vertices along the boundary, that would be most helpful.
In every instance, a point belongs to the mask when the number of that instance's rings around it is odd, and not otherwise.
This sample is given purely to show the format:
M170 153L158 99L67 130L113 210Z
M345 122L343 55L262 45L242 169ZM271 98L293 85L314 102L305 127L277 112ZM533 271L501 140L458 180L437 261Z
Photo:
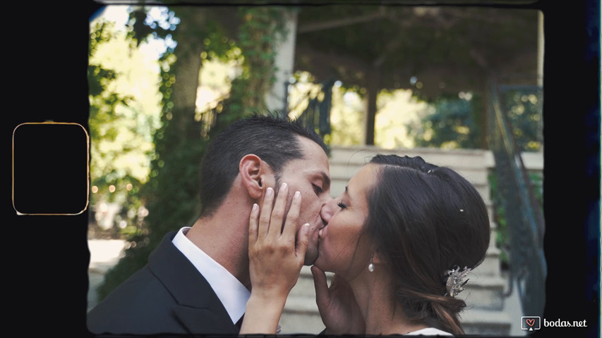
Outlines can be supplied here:
M144 39L149 34L171 37L177 46L167 49L159 61L162 65L159 92L163 98L161 127L154 137L155 156L150 179L140 192L148 208L145 228L128 236L125 256L105 275L98 290L99 299L104 299L142 268L149 253L167 232L191 226L198 218L200 159L210 139L224 127L265 110L264 97L275 79L274 44L284 35L284 11L287 8L253 6L224 13L203 6L176 6L164 9L163 16L168 18L169 25L150 20L143 15L143 8L133 12L134 38ZM231 21L239 23L238 35L234 37L227 36L231 32L227 29ZM241 75L232 81L229 98L216 108L195 111L189 99L194 98L196 85L192 95L190 86L198 84L203 59L227 60L234 56L242 60ZM197 80L191 78L191 74ZM184 97L183 92L187 92L188 97Z

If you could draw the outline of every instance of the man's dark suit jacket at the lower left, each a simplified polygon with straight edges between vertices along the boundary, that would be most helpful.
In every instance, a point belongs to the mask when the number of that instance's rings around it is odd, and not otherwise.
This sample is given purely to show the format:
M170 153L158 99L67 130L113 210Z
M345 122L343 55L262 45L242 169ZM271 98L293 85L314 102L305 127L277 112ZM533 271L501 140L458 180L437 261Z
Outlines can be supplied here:
M93 334L238 334L203 275L169 232L148 264L88 313Z

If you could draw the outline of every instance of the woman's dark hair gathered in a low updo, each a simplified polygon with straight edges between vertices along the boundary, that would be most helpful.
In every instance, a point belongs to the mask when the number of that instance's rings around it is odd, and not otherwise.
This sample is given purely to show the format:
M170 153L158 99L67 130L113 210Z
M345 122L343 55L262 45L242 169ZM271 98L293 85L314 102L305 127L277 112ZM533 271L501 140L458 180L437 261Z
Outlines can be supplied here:
M475 268L490 239L488 210L473 184L421 157L378 154L377 182L368 192L366 231L395 278L405 315L464 334L464 300L446 295L448 270Z

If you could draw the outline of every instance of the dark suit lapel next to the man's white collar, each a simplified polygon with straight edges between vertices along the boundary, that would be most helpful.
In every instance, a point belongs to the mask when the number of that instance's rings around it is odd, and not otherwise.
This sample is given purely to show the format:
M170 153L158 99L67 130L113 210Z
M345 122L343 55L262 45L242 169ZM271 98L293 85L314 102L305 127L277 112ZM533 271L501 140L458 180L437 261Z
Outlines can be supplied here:
M176 299L174 315L193 334L237 334L238 327L232 323L226 308L205 277L171 243L175 234L167 234L148 260L152 273Z

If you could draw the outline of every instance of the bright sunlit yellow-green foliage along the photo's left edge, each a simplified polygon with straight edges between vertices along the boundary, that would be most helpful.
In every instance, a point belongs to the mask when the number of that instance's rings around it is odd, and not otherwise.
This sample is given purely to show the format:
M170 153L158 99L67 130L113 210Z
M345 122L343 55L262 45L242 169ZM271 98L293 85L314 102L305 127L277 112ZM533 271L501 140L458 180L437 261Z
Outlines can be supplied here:
M102 230L105 235L119 236L133 232L140 226L142 203L138 191L148 177L148 156L152 153L150 130L152 118L143 113L140 97L131 92L119 92L124 76L121 71L102 63L109 42L118 39L114 23L98 21L90 29L90 63L88 87L90 99L90 202L97 215L100 205L115 203L126 206L115 215L121 227ZM123 37L121 37L123 38ZM123 44L133 46L131 39ZM97 225L92 220L92 225ZM109 224L111 226L112 224Z

